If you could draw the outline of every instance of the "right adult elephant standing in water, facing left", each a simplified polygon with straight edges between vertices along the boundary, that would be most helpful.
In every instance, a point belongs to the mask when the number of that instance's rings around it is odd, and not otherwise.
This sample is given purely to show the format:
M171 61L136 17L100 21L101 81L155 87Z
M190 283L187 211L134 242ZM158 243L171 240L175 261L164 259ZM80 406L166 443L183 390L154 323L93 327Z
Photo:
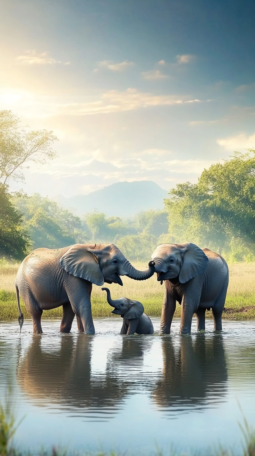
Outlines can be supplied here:
M152 254L158 281L165 281L160 331L169 334L176 301L182 306L180 334L190 334L194 313L198 331L205 330L205 311L212 308L214 330L221 316L229 283L224 258L195 244L161 244Z

